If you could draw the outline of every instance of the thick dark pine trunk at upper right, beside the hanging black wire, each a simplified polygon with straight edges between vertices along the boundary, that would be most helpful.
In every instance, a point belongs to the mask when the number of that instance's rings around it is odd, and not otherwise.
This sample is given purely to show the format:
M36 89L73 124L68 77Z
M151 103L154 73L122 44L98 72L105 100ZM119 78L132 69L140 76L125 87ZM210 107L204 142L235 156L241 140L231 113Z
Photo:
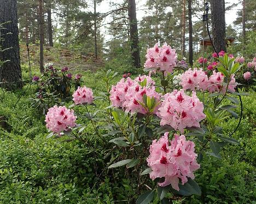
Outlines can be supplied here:
M212 0L211 13L213 45L217 52L226 51L225 1Z

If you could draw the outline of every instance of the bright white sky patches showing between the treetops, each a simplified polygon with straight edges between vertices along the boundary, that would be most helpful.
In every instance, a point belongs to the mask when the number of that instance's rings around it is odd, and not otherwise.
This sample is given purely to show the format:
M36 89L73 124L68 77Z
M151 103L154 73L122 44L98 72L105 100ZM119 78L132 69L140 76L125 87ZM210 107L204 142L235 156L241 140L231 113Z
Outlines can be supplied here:
M123 2L122 0L111 0L112 2ZM179 0L181 1L181 0ZM228 2L226 1L226 7L228 7L229 5L231 5L231 3L238 3L239 0L229 0L231 2ZM100 12L100 13L107 13L107 11L110 11L112 10L113 8L110 7L109 5L109 2L110 1L107 1L107 0L103 0L101 2L100 5L97 5L97 12ZM147 7L145 6L146 4L146 0L137 0L136 1L136 14L137 14L137 20L138 21L141 21L143 16L146 15L146 9ZM236 19L237 15L236 15L236 12L237 12L237 9L241 9L242 8L242 5L241 4L238 4L237 7L233 8L232 10L229 10L229 11L226 11L226 14L225 14L225 21L226 21L226 25L232 25L233 21ZM89 8L89 10L93 11L93 8ZM106 18L106 20L104 21L104 23L107 23L107 22L110 22L111 20L111 17L108 16ZM108 41L111 39L111 36L107 34L106 32L106 27L102 27L101 28L101 31L102 33L105 33L105 41Z

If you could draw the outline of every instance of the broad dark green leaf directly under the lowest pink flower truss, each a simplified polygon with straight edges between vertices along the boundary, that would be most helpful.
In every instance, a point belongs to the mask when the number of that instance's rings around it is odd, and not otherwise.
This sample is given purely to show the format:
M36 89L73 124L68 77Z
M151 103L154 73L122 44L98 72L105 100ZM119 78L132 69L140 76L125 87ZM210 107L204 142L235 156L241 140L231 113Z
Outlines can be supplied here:
M174 193L184 196L201 195L201 189L193 179L188 178L188 182L184 185L179 184L179 191L174 190Z

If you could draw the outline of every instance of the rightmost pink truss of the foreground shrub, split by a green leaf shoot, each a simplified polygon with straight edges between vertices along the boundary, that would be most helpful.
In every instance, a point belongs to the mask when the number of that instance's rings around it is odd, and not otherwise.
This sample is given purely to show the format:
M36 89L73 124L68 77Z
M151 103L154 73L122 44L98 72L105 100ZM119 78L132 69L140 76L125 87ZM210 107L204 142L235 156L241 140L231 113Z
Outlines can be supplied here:
M224 75L220 72L216 73L216 71L214 70L213 74L209 78L208 91L210 93L212 93L212 92L225 93L226 86L223 85L223 81L224 81ZM235 80L235 75L233 74L229 81L228 91L231 93L235 92L236 85L237 85L237 83Z

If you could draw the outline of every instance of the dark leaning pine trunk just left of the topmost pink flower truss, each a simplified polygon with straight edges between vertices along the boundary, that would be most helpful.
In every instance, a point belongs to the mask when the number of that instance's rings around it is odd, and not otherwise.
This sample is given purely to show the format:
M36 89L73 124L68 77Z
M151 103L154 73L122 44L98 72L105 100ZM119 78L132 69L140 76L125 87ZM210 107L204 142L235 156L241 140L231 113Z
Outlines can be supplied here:
M136 68L140 68L141 59L139 58L138 26L137 26L137 18L136 18L135 0L128 0L128 15L129 15L129 24L130 24L131 57L132 57L133 65Z

